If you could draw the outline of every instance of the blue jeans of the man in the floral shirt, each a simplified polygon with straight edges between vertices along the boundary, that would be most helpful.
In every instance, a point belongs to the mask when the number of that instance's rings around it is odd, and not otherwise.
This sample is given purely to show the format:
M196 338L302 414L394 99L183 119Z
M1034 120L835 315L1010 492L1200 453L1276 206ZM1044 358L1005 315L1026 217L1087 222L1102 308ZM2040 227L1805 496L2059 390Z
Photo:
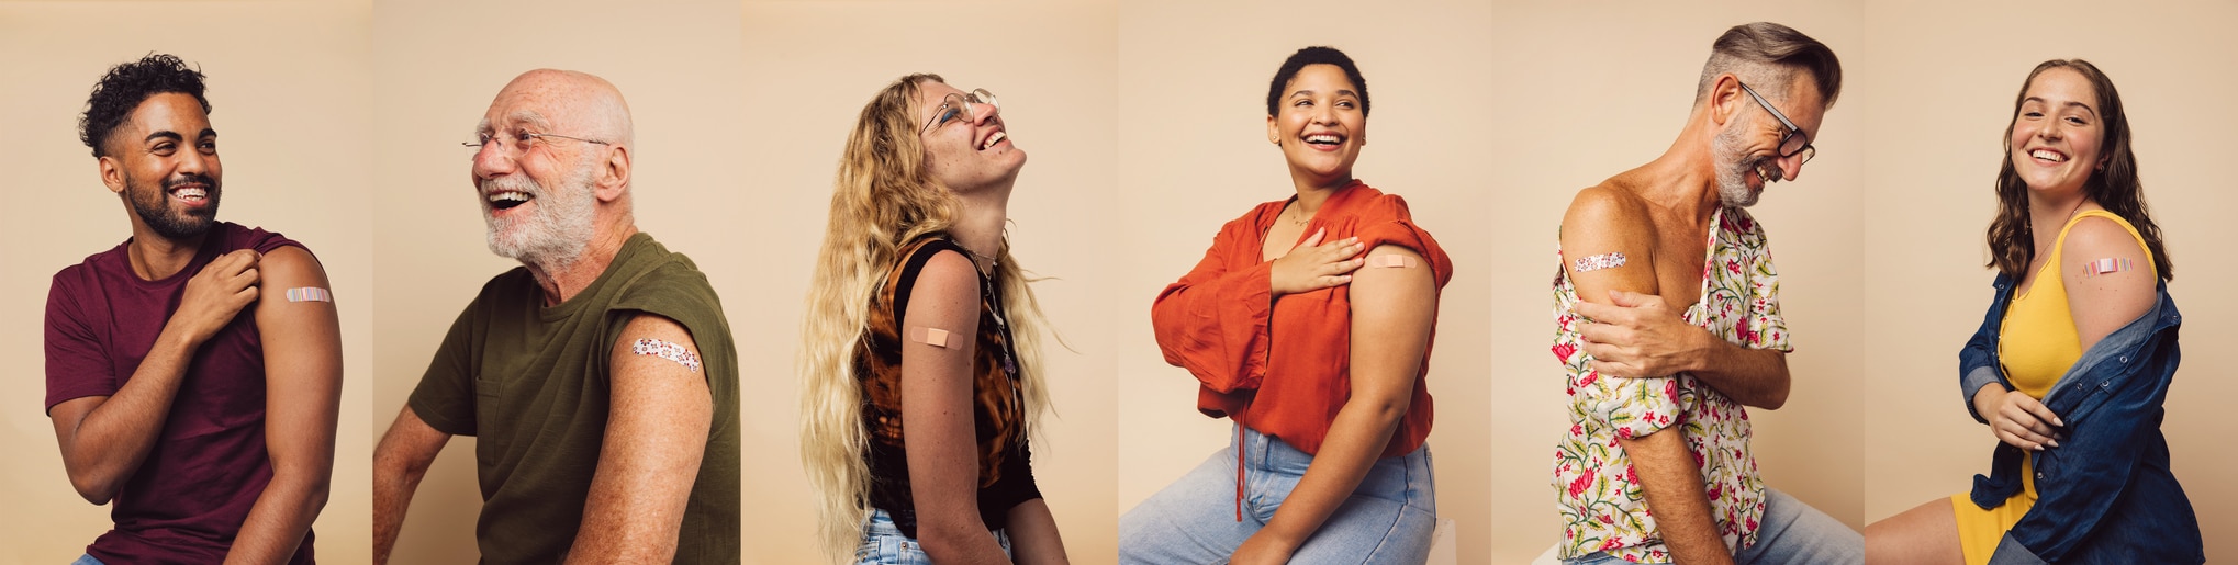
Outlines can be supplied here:
M1764 520L1757 545L1732 554L1737 565L1833 563L1862 565L1864 534L1784 491L1764 489ZM1562 561L1562 565L1629 565L1609 554Z

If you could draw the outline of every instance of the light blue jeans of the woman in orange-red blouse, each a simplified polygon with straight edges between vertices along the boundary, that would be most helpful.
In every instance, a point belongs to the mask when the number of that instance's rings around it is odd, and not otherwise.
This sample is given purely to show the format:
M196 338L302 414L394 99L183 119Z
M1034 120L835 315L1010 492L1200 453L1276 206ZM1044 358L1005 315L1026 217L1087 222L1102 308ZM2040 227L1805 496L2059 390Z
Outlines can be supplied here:
M1235 520L1235 453L1244 453L1242 520ZM1273 518L1314 456L1244 429L1197 469L1119 518L1119 563L1226 563ZM1430 447L1381 458L1361 487L1291 554L1291 563L1423 563L1437 532Z

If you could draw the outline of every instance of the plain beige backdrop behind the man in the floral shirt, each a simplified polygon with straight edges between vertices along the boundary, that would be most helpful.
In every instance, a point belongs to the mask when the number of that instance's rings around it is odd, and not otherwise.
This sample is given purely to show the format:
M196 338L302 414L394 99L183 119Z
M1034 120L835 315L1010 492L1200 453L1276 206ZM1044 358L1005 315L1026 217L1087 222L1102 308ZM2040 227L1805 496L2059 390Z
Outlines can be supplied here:
M1499 89L1479 112L1497 112L1488 194L1493 241L1493 563L1524 563L1562 536L1551 482L1553 442L1562 438L1567 395L1553 344L1551 279L1555 226L1587 185L1643 165L1678 136L1694 103L1710 42L1732 25L1790 25L1842 58L1844 92L1819 125L1819 156L1797 181L1764 190L1750 212L1770 232L1779 266L1779 306L1793 331L1793 391L1779 411L1750 409L1757 467L1770 487L1793 494L1851 527L1862 527L1864 308L1858 261L1869 183L1858 85L1889 80L1871 71L1858 4L1627 4L1502 7L1491 69ZM1466 268L1466 266L1464 266Z

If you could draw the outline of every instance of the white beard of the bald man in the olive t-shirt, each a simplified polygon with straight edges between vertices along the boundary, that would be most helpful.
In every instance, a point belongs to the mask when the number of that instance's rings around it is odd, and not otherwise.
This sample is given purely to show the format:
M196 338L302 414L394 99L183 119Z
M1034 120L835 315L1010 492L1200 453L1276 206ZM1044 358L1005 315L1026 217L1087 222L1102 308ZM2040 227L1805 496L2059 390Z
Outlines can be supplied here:
M526 174L510 174L481 181L481 210L488 223L490 252L519 259L544 270L564 270L591 246L598 221L598 197L591 176L598 167L580 167L560 181L557 190L546 190ZM521 219L497 219L490 214L492 192L528 192L537 208Z

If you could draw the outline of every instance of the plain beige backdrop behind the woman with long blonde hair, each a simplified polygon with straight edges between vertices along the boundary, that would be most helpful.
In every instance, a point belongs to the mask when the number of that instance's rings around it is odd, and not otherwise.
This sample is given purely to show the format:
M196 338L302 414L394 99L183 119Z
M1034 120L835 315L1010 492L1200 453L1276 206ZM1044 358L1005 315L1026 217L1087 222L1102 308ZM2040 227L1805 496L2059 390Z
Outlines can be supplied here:
M756 322L739 346L759 375L745 400L745 545L750 563L815 563L815 494L799 462L801 299L839 150L862 105L913 71L933 71L962 89L1003 100L1012 141L1027 152L1009 199L1009 239L1018 261L1050 281L1034 284L1047 322L1072 351L1043 342L1056 413L1034 438L1034 478L1056 516L1074 563L1112 563L1117 438L1112 427L1110 319L1112 259L1123 230L1112 170L1121 152L1112 121L1135 105L1112 78L1110 2L747 2L745 100L754 132L734 156L754 163L756 194L743 223L754 241Z

